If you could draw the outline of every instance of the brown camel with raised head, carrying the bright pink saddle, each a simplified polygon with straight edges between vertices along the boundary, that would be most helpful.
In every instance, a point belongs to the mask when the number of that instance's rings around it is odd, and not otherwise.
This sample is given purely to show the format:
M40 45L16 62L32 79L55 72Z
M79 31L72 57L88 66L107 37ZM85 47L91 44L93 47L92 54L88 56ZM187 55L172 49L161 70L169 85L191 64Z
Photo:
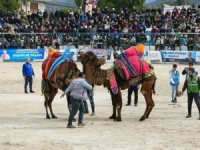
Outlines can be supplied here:
M149 117L150 112L154 107L154 101L152 98L152 93L155 92L155 81L156 77L151 70L151 74L148 77L144 77L144 75L138 76L137 78L133 78L132 81L126 81L121 79L119 73L117 72L117 67L113 66L111 69L103 70L101 69L101 65L105 63L104 58L97 58L97 56L93 52L80 52L79 55L80 61L83 65L83 72L85 73L85 78L91 85L104 85L107 87L111 94L112 105L113 105L113 114L109 117L110 119L114 119L115 121L121 121L121 109L122 109L122 95L121 89L127 89L131 84L138 83L141 84L141 92L146 100L146 110L140 121L143 121ZM117 85L119 90L117 94L114 94L111 90L109 84L109 74L114 73L117 81Z

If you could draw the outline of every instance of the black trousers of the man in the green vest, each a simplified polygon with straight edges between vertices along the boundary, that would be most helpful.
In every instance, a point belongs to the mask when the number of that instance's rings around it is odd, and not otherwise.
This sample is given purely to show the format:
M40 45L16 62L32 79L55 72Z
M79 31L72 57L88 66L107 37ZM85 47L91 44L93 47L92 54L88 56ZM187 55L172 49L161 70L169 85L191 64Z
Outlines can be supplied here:
M188 114L192 114L192 103L193 99L197 105L197 108L200 113L200 99L199 99L199 93L188 93Z

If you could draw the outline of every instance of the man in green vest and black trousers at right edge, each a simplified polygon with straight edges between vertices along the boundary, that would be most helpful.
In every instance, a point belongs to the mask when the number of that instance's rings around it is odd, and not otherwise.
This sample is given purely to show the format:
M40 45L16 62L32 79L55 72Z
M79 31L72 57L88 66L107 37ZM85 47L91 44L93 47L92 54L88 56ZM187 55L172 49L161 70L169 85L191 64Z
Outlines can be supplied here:
M182 94L185 91L185 89L187 89L187 96L188 96L188 115L186 116L186 118L192 117L192 102L194 99L197 108L199 110L199 120L200 120L200 99L199 99L200 79L197 76L197 74L195 74L194 69L189 70L189 76L184 82Z

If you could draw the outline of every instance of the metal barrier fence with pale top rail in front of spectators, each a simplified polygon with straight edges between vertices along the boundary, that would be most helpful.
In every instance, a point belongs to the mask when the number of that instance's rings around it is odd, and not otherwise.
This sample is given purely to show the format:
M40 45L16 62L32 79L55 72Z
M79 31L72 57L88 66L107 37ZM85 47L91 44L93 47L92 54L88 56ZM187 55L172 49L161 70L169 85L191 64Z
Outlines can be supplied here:
M144 43L147 50L200 50L200 33L0 33L0 48L44 48L61 45L90 45L92 48L107 49L111 46L126 49Z

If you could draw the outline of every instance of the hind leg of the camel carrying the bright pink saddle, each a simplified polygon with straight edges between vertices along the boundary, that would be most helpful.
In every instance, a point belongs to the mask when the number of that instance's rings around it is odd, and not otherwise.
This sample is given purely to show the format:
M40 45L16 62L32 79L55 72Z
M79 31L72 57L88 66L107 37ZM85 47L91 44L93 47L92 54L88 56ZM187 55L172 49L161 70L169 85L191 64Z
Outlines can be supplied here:
M144 112L144 115L140 118L140 121L143 121L149 117L149 114L154 106L154 102L152 99L152 82L153 81L144 81L142 83L141 92L146 101L146 110Z

